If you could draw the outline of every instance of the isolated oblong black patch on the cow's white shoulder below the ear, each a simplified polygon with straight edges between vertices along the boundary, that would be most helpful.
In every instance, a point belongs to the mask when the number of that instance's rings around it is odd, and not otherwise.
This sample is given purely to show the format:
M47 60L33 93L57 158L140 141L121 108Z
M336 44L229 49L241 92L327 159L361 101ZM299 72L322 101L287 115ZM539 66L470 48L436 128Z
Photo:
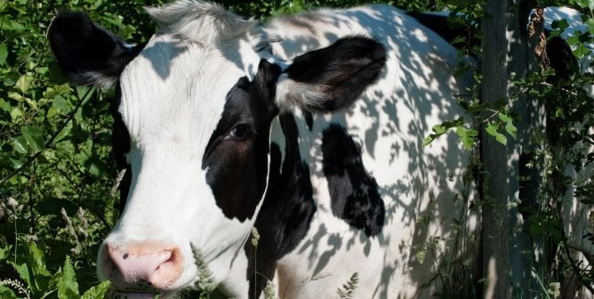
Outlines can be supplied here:
M323 170L333 214L368 237L378 235L385 207L375 179L365 171L360 147L341 125L331 124L323 134Z

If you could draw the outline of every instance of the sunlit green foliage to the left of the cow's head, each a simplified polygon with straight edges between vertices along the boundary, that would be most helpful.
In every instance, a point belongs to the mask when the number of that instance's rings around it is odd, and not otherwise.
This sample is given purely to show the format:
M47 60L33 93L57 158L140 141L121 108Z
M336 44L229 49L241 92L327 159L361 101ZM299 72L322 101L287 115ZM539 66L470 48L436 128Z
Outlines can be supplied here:
M97 248L118 214L108 146L113 93L68 85L45 35L56 12L74 9L142 42L154 25L141 6L157 2L132 2L0 0L2 298L107 291L108 283L92 286Z

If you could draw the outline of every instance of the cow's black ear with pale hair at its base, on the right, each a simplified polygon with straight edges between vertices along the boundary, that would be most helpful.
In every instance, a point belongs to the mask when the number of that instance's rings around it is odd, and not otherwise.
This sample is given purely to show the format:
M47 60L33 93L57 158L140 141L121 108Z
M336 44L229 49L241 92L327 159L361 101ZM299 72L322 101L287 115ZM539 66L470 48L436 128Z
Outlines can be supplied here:
M296 57L277 85L277 102L314 112L349 107L386 64L384 46L365 36L347 36Z

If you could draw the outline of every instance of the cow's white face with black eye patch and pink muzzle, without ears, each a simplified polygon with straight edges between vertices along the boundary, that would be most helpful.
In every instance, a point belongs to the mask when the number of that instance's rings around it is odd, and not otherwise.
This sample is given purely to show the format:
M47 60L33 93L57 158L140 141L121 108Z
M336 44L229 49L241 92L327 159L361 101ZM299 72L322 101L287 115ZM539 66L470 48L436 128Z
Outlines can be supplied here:
M173 288L197 278L197 255L218 282L241 254L266 188L275 113L270 82L280 69L255 61L260 69L250 80L226 54L154 36L119 79L132 184L99 264L124 287L137 279L138 266L124 259L132 252L169 252L179 268L158 264L165 279L145 279Z

